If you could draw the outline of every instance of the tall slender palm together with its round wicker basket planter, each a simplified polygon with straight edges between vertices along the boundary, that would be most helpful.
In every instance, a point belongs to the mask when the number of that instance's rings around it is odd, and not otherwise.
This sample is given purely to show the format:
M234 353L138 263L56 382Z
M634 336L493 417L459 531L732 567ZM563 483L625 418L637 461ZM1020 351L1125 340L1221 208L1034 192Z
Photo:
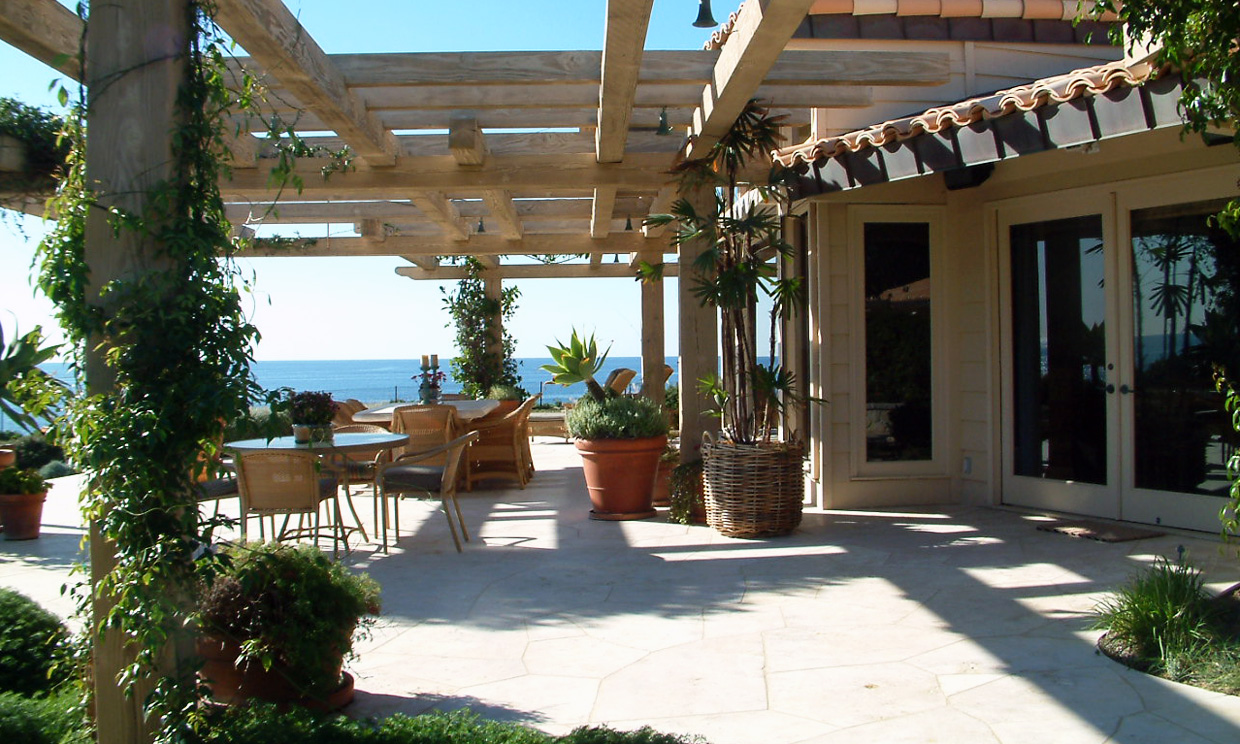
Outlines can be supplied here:
M732 128L702 159L676 166L681 193L714 195L711 207L698 211L688 198L677 200L671 213L651 215L651 226L676 223L672 243L681 248L707 242L694 262L693 291L720 317L722 376L702 381L719 405L720 436L703 443L708 523L732 537L786 534L801 522L804 448L786 432L786 407L800 401L792 373L776 357L781 320L804 303L799 277L780 277L773 258L791 255L784 239L781 216L769 198L786 196L773 171L765 182L742 182L754 160L769 160L779 140L781 117L773 117L750 100ZM756 192L761 200L749 198ZM758 362L756 312L759 295L771 300L768 363ZM777 433L785 439L780 440Z

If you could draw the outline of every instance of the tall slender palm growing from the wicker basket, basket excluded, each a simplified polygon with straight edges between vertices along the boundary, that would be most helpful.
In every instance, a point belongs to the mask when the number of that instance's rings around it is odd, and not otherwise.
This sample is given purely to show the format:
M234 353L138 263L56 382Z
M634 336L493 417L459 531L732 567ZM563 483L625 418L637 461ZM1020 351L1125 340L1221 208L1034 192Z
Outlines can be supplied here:
M804 304L800 277L779 277L771 259L791 255L784 239L780 212L771 198L781 200L787 171L775 169L764 182L743 182L744 170L779 141L782 117L773 117L750 100L737 123L702 159L677 165L680 191L709 188L711 208L698 211L687 198L677 200L666 215L651 215L649 226L676 223L672 244L706 243L693 262L693 294L703 306L719 309L723 374L699 381L703 394L719 405L723 433L733 441L769 440L785 408L800 398L791 371L775 363L780 321ZM758 196L759 198L753 198ZM770 363L758 362L754 308L764 294L771 301Z

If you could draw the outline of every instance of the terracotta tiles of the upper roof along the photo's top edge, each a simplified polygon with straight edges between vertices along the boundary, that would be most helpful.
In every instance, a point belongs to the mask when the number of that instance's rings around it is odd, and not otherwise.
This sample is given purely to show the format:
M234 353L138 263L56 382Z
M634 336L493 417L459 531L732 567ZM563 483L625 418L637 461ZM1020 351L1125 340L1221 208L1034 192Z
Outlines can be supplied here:
M748 0L746 0L748 1ZM1094 2L1084 2L1084 9ZM1081 11L1078 0L817 0L810 15L931 16L941 19L1022 19L1025 21L1071 21ZM1102 17L1116 20L1112 15ZM707 40L704 48L718 50L737 24L733 12Z

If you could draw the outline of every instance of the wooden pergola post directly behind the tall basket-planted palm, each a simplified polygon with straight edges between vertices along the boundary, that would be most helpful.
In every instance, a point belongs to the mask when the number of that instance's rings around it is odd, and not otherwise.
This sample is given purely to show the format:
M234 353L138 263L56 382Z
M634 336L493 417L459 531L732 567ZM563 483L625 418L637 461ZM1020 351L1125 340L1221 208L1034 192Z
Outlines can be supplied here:
M686 195L701 213L713 212L714 193L698 188ZM681 331L681 461L702 456L702 432L718 432L718 419L707 410L714 402L698 393L697 381L719 373L719 314L703 308L693 296L693 262L709 244L698 239L681 246L680 331Z

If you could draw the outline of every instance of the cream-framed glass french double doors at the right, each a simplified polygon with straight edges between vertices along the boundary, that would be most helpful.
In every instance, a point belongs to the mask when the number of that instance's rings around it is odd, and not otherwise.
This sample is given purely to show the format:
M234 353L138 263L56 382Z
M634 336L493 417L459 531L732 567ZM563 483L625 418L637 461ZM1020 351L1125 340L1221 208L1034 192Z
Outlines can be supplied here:
M1240 246L1192 191L998 210L1006 503L1219 528L1236 435L1211 365L1240 373Z

